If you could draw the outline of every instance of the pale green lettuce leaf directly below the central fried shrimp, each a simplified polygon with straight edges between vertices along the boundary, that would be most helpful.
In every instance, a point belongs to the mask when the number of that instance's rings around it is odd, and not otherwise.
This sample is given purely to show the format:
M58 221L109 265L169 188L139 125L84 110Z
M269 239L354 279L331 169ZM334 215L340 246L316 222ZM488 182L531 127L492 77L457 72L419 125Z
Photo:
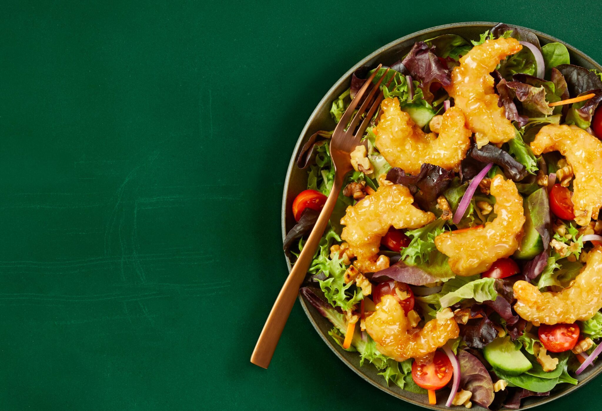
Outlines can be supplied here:
M479 303L485 300L495 300L497 298L495 279L479 277L479 275L456 277L446 282L441 290L441 294L444 295L439 299L441 307L453 306L465 298L474 298ZM453 291L447 292L447 290Z

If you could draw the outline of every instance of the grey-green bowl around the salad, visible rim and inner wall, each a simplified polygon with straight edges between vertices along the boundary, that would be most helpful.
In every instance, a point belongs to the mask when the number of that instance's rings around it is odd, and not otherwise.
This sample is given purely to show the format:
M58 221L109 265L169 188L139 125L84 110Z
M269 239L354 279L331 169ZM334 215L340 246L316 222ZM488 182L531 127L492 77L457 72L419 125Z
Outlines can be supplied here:
M297 168L295 164L295 160L297 158L297 153L300 148L305 144L310 135L312 135L315 131L318 130L332 130L335 128L335 123L330 117L329 110L330 105L332 104L332 100L337 99L337 97L343 93L344 90L349 87L350 79L352 73L361 66L375 66L378 63L382 63L384 65L393 64L395 61L399 60L399 57L406 54L409 49L414 45L415 42L420 40L432 39L433 37L440 36L441 34L458 34L459 36L464 37L465 39L478 39L479 34L485 32L487 29L491 29L496 23L488 23L488 22L467 22L467 23L455 23L448 24L444 26L437 26L433 28L429 28L423 31L418 31L409 36L402 37L401 39L395 40L394 42L389 43L386 46L376 50L372 54L368 55L368 57L363 58L359 61L358 64L351 67L347 73L345 73L326 93L326 95L320 100L314 112L309 116L309 120L305 124L301 135L299 136L299 140L297 141L297 145L295 146L295 150L293 152L293 156L291 156L291 161L288 166L287 171L287 179L284 183L284 195L282 197L282 238L284 239L288 230L291 229L294 225L294 218L291 212L291 205L293 203L294 197L300 193L300 191L305 190L307 187L307 171L300 170ZM587 67L590 69L598 69L602 71L602 67L600 64L596 63L594 60L588 57L588 55L583 54L576 48L562 42L562 40L558 40L554 37L548 36L548 34L544 34L542 32L535 32L539 37L539 42L542 45L551 42L560 42L563 43L568 49L571 55L571 63L578 64L579 66ZM288 270L291 270L290 261L288 261ZM307 314L309 321L313 324L315 330L318 332L318 335L324 340L326 345L330 347L332 350L344 363L346 363L353 371L355 371L359 376L361 376L364 380L369 382L370 384L376 386L377 388L382 389L382 391L388 392L391 395L394 395L401 400L408 401L409 403L416 404L421 407L433 409L433 410L448 410L444 405L444 398L447 398L447 394L439 394L438 404L435 406L431 406L427 403L426 395L414 394L409 391L404 391L400 389L397 385L391 384L387 386L385 383L385 379L383 379L382 375L377 375L377 370L374 366L370 364L364 364L364 366L359 366L359 355L357 353L348 353L339 347L328 335L328 331L332 328L332 324L326 318L322 317L315 309L308 304L303 298L299 298L300 304ZM556 398L562 397L563 395L569 394L570 392L575 391L576 389L585 385L585 383L594 379L596 375L598 375L602 371L602 363L598 361L592 367L589 367L587 371L583 372L581 375L577 377L579 380L579 385L568 385L562 384L559 385L554 391L551 393L549 397L530 397L526 400L523 400L523 407L521 409L527 409L531 407L535 407L541 404L549 403L550 401L554 401ZM473 406L473 410L485 410L479 406Z

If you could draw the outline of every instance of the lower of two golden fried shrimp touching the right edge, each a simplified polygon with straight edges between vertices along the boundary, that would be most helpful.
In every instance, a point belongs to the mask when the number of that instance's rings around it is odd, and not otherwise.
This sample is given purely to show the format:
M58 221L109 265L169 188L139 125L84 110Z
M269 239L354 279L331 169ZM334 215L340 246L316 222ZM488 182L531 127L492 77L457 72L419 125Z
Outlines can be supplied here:
M514 309L534 326L586 321L602 308L602 247L588 253L583 271L559 292L540 292L526 281L514 283Z

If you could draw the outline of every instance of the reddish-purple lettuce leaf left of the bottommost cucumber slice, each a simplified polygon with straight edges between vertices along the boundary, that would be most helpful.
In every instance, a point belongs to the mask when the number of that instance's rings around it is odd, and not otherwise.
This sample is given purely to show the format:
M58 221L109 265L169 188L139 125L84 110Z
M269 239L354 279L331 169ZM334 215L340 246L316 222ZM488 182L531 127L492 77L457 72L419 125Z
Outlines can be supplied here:
M473 354L458 350L460 362L460 386L473 393L470 398L482 407L488 407L494 400L493 382L485 365Z

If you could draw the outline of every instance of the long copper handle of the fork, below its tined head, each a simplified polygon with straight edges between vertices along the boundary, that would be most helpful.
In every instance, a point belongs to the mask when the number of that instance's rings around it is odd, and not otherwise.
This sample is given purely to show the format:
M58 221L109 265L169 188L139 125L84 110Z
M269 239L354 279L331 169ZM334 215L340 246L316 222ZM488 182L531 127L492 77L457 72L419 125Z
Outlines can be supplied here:
M315 250L318 248L320 239L324 234L324 229L326 229L326 224L330 220L332 210L337 203L338 195L343 186L343 177L344 175L339 177L339 173L335 175L332 190L330 190L330 194L315 222L315 226L303 245L303 250L301 250L299 258L297 258L293 269L288 274L287 280L284 282L278 297L276 297L272 311L270 311L270 315L268 315L265 321L257 344L255 344L253 354L251 354L251 362L255 365L262 368L267 368L270 365L270 360L272 360L272 356L276 350L276 345L284 329L284 324L287 323L288 316L291 314L297 294L299 294L299 288L305 279L309 265L314 258Z

